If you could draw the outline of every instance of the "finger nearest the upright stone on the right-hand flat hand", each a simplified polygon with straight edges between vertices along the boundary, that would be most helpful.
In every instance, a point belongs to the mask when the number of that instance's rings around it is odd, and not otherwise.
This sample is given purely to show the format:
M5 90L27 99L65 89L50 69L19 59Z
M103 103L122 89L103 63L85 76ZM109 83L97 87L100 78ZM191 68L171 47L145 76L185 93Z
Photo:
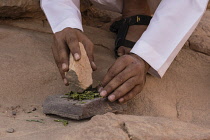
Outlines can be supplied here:
M105 87L104 90L107 91L107 94L110 94L116 90L120 85L125 83L128 79L133 77L136 74L136 71L133 70L133 66L128 66L121 73L115 76Z

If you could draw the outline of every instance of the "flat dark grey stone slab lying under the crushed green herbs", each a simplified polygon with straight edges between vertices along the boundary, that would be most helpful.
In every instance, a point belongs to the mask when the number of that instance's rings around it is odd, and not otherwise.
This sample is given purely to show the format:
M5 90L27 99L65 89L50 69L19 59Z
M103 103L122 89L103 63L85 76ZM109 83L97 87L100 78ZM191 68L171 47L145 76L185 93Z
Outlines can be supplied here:
M121 105L117 102L111 103L104 98L77 101L63 98L63 96L64 95L52 95L47 97L43 103L43 112L45 114L81 120L107 112L119 113L126 108L126 105Z

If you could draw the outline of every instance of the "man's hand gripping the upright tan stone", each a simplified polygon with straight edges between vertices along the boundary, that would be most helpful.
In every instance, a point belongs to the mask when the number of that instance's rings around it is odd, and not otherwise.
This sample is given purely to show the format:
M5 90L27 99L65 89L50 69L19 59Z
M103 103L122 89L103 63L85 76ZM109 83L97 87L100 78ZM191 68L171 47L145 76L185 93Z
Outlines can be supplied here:
M80 60L79 42L85 47L92 69L96 70L93 56L94 45L80 30L68 27L54 35L52 51L65 85L68 85L65 72L69 70L70 52L76 61Z

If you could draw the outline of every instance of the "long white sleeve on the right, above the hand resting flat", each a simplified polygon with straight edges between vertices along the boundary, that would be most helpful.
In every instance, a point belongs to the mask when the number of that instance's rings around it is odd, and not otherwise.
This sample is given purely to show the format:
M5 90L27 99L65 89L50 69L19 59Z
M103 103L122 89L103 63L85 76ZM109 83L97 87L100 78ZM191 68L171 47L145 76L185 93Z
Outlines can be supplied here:
M198 25L207 4L208 0L162 0L148 29L131 50L150 64L149 73L157 77L165 74Z

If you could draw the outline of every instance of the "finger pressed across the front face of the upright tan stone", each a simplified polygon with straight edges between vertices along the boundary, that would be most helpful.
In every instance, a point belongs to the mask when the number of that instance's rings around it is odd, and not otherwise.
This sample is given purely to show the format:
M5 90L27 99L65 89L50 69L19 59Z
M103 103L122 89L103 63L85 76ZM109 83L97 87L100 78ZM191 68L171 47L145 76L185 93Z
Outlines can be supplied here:
M68 37L66 38L67 45L70 49L70 52L72 53L74 60L78 61L81 58L81 52L79 47L79 40L77 38L76 34L70 33Z

